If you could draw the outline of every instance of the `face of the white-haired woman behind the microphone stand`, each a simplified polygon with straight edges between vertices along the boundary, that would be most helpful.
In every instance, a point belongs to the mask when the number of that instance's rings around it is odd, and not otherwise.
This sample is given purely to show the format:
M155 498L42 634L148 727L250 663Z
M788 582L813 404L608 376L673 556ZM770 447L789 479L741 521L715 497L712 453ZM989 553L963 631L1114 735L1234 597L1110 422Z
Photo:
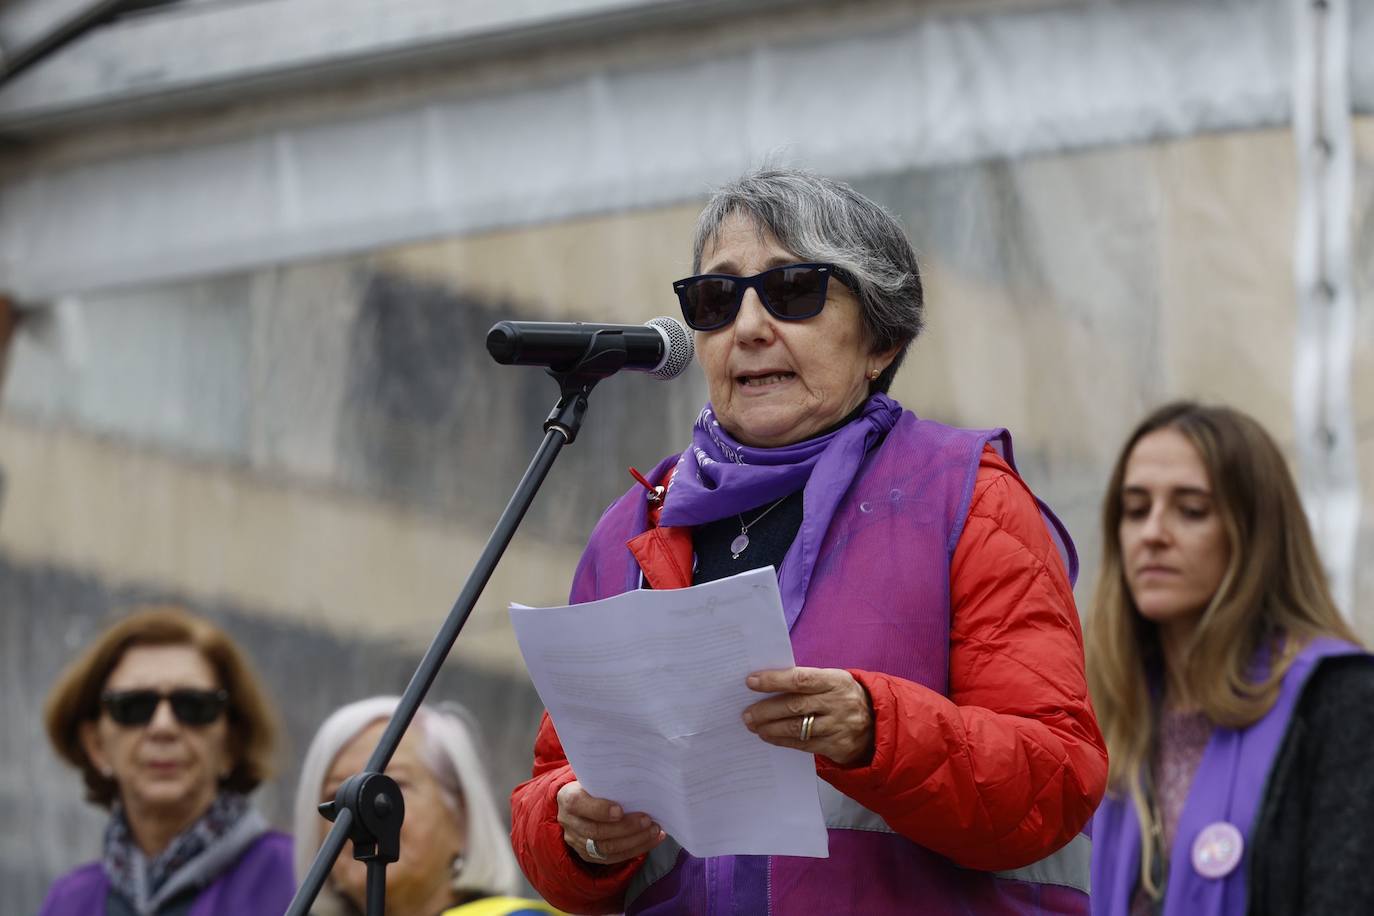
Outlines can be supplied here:
M339 784L354 773L361 773L372 755L385 721L374 722L344 746L330 765L320 791L320 801L331 801ZM389 913L438 913L453 906L453 857L467 849L467 820L459 805L453 809L438 780L420 758L425 737L411 728L386 768L405 798L405 820L401 821L401 858L386 868L386 911ZM322 821L320 842L330 824ZM330 873L334 886L353 901L357 912L367 906L367 867L353 858L352 846L334 864Z

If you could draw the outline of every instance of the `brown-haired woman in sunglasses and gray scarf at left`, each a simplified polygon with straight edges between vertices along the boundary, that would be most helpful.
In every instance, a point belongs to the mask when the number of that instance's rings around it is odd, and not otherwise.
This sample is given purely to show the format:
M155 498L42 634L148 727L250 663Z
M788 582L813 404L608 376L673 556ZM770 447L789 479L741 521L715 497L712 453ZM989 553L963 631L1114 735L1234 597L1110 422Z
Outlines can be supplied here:
M59 878L40 916L286 912L291 839L246 798L269 775L275 715L223 630L131 614L62 674L45 717L110 823L102 860Z

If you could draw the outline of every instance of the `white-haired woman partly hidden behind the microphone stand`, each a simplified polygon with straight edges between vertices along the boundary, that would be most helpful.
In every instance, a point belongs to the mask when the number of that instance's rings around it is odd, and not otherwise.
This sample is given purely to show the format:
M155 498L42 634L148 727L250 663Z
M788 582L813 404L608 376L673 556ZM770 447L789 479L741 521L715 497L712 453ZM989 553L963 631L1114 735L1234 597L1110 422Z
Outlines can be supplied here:
M317 805L363 772L397 698L349 703L320 725L295 792L295 873L311 868L330 824ZM556 913L519 900L519 869L497 813L470 715L456 703L422 706L387 765L405 797L401 858L386 869L386 912L404 916L534 916ZM312 911L361 916L367 868L345 849Z

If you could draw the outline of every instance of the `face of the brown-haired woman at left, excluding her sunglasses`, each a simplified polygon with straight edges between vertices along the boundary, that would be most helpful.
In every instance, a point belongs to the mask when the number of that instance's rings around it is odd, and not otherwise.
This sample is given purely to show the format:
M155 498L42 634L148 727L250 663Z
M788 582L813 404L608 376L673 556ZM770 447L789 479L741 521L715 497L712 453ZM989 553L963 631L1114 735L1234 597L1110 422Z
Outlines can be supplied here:
M191 645L135 645L120 659L106 691L154 689L169 694L223 687L214 669ZM131 818L144 816L190 823L209 809L220 781L234 769L229 726L221 714L209 725L184 725L168 700L147 725L120 725L102 711L81 729L91 762L110 773Z

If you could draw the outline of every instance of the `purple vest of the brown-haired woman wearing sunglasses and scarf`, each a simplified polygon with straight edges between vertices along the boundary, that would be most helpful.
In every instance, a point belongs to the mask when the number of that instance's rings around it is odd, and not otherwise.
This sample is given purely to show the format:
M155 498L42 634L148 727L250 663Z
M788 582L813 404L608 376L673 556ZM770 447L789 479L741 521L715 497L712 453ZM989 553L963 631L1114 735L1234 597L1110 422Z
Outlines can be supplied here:
M291 838L262 834L201 891L190 916L280 916L295 894L291 868ZM109 893L104 868L91 862L52 883L38 916L102 916Z

